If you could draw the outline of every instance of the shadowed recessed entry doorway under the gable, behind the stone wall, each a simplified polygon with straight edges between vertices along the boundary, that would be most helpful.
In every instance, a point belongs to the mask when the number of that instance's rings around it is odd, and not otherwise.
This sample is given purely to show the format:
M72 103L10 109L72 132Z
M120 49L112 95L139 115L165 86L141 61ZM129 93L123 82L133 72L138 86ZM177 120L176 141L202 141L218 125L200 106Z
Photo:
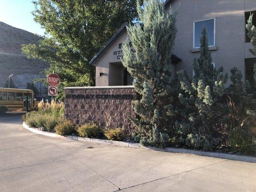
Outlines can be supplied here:
M123 67L122 62L110 63L110 68L109 68L109 85L110 86L133 85L133 82L134 82L134 78Z

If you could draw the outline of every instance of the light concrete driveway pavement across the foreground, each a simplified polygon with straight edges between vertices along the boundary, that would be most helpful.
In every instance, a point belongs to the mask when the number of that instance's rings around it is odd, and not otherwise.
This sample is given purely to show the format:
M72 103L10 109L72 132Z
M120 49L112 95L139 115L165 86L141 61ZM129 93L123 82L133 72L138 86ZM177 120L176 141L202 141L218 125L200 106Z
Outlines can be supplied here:
M0 192L256 192L256 164L50 138L0 116Z

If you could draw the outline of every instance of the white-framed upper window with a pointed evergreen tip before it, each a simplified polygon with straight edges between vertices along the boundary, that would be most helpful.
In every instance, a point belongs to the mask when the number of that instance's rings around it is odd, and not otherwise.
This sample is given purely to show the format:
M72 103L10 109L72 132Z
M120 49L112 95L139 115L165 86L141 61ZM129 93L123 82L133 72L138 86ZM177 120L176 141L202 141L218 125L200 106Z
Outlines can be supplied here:
M215 46L215 18L194 22L193 48L200 48L200 37L203 28L208 31L209 46Z

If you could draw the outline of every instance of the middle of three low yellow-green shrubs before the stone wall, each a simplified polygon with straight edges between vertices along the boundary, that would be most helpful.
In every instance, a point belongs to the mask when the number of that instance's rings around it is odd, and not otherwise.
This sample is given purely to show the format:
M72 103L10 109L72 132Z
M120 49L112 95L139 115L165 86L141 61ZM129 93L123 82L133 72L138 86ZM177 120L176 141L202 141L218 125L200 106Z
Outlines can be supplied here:
M101 138L103 132L95 123L86 123L77 129L79 136L81 137L93 137Z

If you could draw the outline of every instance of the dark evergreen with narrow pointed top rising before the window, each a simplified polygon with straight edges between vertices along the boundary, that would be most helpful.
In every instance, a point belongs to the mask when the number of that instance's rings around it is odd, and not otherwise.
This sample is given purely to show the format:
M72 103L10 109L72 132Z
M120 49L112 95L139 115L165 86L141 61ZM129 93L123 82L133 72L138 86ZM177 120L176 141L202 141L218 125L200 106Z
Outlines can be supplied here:
M195 74L192 81L186 71L177 72L182 92L179 95L179 116L175 124L178 143L197 149L209 149L220 143L219 102L228 75L223 73L222 67L216 70L212 65L206 28L203 28L200 43L200 58L194 60Z

